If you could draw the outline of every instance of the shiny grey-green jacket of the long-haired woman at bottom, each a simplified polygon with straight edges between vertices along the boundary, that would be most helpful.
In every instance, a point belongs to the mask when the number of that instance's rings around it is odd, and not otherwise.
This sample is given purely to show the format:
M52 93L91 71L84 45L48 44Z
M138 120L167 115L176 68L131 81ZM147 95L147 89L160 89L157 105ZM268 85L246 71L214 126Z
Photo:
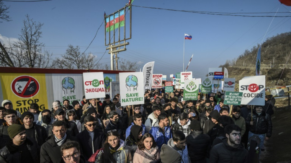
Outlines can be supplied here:
M130 149L128 148L128 146L125 145L123 140L119 140L119 148L117 150L112 150L111 154L114 157L114 160L116 161L116 163L132 163L132 157L131 157L131 153L130 153ZM103 163L103 150L101 149L99 151L99 153L96 155L96 159L95 159L95 163Z

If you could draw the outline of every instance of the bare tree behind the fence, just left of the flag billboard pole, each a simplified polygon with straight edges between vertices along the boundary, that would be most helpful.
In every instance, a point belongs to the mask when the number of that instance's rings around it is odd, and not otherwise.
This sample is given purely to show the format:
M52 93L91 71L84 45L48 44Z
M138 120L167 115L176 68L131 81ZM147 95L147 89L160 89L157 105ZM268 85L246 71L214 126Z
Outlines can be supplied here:
M93 54L81 54L79 46L74 47L68 45L66 54L61 58L56 58L55 68L58 69L99 69L100 65L97 64L96 56Z

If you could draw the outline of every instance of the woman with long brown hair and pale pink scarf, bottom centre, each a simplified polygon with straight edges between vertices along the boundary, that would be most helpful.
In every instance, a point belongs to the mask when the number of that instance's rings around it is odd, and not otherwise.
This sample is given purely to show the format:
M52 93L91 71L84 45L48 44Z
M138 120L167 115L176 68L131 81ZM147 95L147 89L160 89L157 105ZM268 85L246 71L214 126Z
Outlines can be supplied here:
M138 142L138 149L134 153L134 163L160 162L160 150L153 135L146 133Z

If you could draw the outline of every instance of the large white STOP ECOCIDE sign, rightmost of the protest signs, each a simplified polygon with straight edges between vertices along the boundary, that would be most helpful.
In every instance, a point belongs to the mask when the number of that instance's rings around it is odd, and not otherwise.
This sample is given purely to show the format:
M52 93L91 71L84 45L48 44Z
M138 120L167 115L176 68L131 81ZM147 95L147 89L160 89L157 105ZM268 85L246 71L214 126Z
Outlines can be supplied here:
M239 91L243 92L241 105L265 105L265 77L245 76L240 80Z

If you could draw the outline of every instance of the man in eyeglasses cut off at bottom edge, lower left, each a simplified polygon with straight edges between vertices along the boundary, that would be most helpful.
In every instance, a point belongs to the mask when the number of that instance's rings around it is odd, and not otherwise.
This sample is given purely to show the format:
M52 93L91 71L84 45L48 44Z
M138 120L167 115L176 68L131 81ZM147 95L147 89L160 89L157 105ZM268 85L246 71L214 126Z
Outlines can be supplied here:
M80 154L80 145L76 141L66 142L61 146L61 153L65 163L85 163L85 157Z

